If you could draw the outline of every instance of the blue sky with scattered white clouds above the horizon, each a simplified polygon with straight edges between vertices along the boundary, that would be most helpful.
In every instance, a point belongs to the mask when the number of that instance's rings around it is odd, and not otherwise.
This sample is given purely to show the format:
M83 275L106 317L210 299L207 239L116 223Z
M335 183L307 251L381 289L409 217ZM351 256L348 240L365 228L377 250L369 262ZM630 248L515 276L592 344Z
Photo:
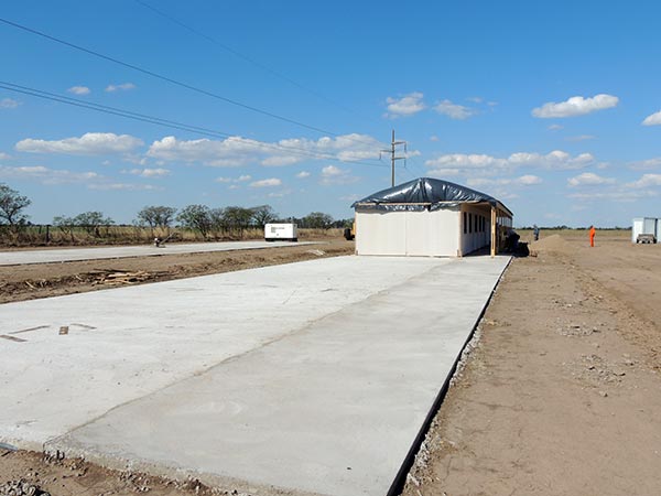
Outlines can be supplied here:
M2 82L220 133L0 88L0 182L33 222L193 203L350 217L390 185L393 128L398 183L469 185L517 225L661 216L655 2L143 3L170 19L136 0L4 2L0 18L289 121L0 23Z

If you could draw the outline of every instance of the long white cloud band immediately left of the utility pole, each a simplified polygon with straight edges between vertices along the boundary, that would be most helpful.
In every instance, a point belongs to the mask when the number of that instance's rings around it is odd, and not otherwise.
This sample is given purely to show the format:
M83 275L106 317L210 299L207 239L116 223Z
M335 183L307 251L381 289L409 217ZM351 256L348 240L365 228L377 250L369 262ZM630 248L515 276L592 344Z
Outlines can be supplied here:
M209 166L242 166L259 163L264 166L292 165L303 161L336 159L354 161L377 159L384 147L366 134L336 138L291 138L266 143L241 137L225 140L177 140L173 136L154 141L148 157L163 161L201 162Z

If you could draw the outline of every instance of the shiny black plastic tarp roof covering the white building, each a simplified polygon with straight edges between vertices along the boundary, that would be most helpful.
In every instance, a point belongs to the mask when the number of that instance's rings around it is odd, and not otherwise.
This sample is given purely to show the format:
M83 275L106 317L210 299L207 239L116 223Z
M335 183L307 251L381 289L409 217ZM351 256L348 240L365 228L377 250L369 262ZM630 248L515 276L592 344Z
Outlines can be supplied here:
M432 177L419 177L379 191L355 202L351 207L377 211L437 211L460 203L488 203L512 214L501 202L486 193Z

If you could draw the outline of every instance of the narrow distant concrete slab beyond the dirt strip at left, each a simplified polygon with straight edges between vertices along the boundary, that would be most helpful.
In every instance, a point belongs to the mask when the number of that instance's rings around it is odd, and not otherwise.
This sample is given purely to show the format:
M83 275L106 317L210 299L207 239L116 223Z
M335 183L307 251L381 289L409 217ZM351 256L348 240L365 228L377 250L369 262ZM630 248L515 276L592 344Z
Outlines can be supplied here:
M314 245L314 241L226 241L189 242L182 245L110 246L101 248L64 248L54 250L0 251L0 266L20 266L26 263L52 263L75 260L99 260L130 257L156 257L159 255L205 254L208 251L254 250L301 245Z

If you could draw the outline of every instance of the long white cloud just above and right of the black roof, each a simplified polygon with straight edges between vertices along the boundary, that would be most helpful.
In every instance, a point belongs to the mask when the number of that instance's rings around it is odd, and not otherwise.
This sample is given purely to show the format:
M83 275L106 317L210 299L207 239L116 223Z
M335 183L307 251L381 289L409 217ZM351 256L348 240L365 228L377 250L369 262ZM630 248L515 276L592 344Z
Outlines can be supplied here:
M498 172L513 171L521 166L537 166L552 170L583 169L594 164L595 158L589 153L572 157L567 152L554 150L551 153L512 153L507 158L497 158L487 154L453 153L427 160L430 175L448 175L447 171L456 175L457 171L465 174L494 175Z

